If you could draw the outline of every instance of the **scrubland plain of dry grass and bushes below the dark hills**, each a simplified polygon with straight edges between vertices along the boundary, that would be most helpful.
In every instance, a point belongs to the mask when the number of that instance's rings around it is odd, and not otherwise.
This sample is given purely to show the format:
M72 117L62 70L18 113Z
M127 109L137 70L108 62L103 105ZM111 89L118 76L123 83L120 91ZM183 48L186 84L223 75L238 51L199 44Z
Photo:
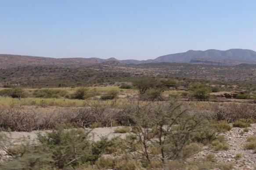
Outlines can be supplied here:
M215 157L230 149L223 134L248 133L256 120L255 89L216 81L140 77L108 86L5 87L0 96L3 170L231 170L233 163ZM93 129L116 126L123 138L92 140ZM7 135L35 130L48 131L35 141ZM256 149L254 138L245 149Z

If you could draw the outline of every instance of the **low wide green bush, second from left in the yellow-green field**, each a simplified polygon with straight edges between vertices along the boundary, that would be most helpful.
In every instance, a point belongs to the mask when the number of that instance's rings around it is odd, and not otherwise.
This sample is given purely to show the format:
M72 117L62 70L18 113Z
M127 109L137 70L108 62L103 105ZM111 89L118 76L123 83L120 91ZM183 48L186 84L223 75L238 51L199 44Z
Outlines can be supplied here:
M33 92L33 96L38 98L59 98L64 97L67 94L65 90L55 89L38 89Z

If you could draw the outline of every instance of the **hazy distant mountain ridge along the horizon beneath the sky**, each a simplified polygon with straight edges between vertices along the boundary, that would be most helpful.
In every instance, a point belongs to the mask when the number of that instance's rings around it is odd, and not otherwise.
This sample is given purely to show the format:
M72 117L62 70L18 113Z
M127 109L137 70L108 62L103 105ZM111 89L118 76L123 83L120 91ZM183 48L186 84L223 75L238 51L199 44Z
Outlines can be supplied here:
M117 60L115 58L50 58L11 54L0 54L0 68L17 66L60 65L60 66L91 66L95 64L144 64L144 63L195 63L211 65L256 64L256 52L253 50L189 50L157 57L154 60Z

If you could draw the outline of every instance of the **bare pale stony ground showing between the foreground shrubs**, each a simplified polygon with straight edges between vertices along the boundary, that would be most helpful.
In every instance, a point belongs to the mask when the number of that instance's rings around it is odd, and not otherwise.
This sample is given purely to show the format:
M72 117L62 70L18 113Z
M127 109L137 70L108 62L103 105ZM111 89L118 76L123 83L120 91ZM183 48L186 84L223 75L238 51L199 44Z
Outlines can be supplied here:
M114 133L115 129L119 127L101 127L93 129L91 133L91 139L94 141L99 140L101 137L113 138L120 136L124 138L127 134ZM234 170L256 170L256 153L253 150L245 150L244 145L249 135L256 135L256 124L252 124L249 127L248 132L242 133L243 129L233 127L231 131L225 132L223 135L227 139L227 143L230 145L227 151L202 151L196 157L205 157L209 153L216 156L219 162L232 163ZM10 132L11 138L29 137L31 140L36 138L37 133L45 133L45 131L32 131L32 132ZM235 155L242 153L242 158L236 160Z

